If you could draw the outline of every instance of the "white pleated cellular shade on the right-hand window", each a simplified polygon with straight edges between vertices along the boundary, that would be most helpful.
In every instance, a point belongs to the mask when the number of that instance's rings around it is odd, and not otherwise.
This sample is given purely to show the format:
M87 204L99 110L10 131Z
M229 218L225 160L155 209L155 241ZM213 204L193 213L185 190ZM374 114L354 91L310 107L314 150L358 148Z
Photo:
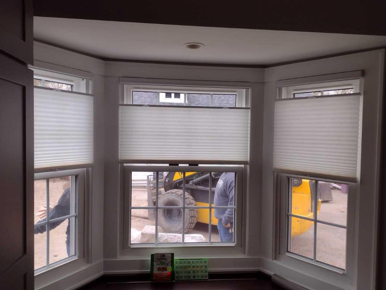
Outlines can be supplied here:
M284 99L275 103L275 171L356 180L361 96Z

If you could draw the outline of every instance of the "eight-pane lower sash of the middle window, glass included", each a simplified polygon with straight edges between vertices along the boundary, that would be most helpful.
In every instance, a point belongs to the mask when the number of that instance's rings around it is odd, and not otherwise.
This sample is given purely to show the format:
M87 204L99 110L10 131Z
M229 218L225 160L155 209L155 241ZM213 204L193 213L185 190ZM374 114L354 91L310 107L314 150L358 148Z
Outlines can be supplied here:
M242 166L125 165L124 174L126 247L240 239Z

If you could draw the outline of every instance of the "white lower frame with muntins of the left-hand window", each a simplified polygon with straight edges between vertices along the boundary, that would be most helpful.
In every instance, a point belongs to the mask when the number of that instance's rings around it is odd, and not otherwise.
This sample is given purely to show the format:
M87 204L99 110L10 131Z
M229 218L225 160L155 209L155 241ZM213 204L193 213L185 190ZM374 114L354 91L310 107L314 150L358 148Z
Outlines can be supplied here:
M76 232L73 226L71 226L71 235L75 235L76 237L76 245L74 245L74 255L69 256L67 258L56 261L52 264L49 264L49 238L47 239L46 246L46 266L39 268L34 271L34 275L38 276L48 271L54 270L60 266L64 266L68 263L78 261L80 259L85 260L85 245L86 245L86 235L85 229L87 228L87 219L85 217L85 213L87 212L85 205L87 196L88 196L88 170L87 169L69 169L62 171L49 171L49 172L41 172L34 174L34 180L40 179L49 179L56 177L66 177L71 176L75 178L71 178L71 198L76 198L76 213L61 217L64 221L69 217L76 217ZM49 204L49 193L47 193L47 204ZM75 203L74 203L75 204ZM48 216L49 206L47 206L47 216ZM46 222L44 222L46 223ZM40 224L40 223L39 223ZM47 232L44 232L47 234ZM72 246L72 245L71 245Z

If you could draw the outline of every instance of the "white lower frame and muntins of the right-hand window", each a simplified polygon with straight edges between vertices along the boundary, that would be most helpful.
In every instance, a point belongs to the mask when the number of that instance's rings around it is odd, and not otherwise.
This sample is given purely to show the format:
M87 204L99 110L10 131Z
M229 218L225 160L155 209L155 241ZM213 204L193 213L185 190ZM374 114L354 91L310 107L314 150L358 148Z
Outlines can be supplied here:
M289 231L289 225L288 225L288 219L295 216L298 218L304 218L298 215L293 215L288 212L289 209L289 191L291 190L291 184L289 184L289 180L291 178L300 178L300 179L310 179L310 180L316 180L316 181L325 181L325 182L332 182L332 183L343 183L347 184L349 186L349 193L347 196L347 225L342 226L334 223L328 223L328 222L321 222L318 221L318 217L316 215L316 220L318 223L323 223L327 225L332 225L335 227L345 228L346 229L346 266L345 269L341 269L320 261L316 260L316 239L317 239L317 231L314 232L314 259L310 259L304 256L301 256L299 254L295 254L293 252L288 251L288 245L289 245L289 239L291 239ZM330 271L334 271L336 273L344 274L349 277L353 277L354 275L354 269L352 265L354 264L354 258L352 255L352 252L354 251L354 228L355 228L355 209L356 209L356 195L359 192L359 184L357 183L349 183L347 181L339 181L339 180L332 180L332 179L323 179L323 178L317 178L317 177L309 177L309 176L301 176L301 175L294 175L294 174L285 174L285 173L275 173L275 185L276 185L276 195L275 200L277 201L275 204L277 206L277 219L278 225L274 229L274 233L276 236L276 247L274 247L274 257L276 259L297 259L300 261L303 261L305 263L310 263L315 266L318 266L320 268L325 268ZM318 195L315 194L315 198L317 198ZM315 207L317 207L318 202L314 202ZM315 208L313 209L315 211ZM315 223L313 224L314 229L316 227Z

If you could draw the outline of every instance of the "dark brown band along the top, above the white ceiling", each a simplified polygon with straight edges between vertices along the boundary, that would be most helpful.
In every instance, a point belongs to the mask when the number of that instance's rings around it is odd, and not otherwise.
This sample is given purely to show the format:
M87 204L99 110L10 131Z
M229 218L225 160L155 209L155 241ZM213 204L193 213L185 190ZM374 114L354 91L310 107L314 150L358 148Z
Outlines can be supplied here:
M191 26L386 35L386 0L34 0L34 15Z

